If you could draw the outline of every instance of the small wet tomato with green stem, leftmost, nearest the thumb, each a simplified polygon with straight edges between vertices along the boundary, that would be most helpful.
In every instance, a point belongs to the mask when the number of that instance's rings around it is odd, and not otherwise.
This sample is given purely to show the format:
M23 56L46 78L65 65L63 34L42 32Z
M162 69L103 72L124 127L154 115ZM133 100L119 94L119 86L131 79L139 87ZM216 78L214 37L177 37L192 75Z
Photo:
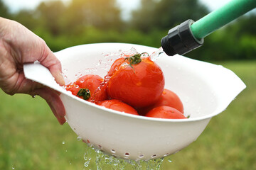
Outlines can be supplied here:
M75 96L91 101L91 96L93 96L102 81L102 77L98 75L87 74L80 77L75 83L68 85L66 89Z

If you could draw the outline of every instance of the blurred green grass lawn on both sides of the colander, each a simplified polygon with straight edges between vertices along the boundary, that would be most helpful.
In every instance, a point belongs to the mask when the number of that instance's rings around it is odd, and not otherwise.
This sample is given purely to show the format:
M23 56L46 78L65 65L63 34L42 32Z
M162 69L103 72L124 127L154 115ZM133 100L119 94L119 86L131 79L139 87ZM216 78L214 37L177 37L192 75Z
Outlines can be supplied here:
M166 157L161 169L256 169L256 62L218 64L233 70L247 89L210 120L198 140ZM85 169L85 149L67 124L58 125L43 99L0 90L0 169Z

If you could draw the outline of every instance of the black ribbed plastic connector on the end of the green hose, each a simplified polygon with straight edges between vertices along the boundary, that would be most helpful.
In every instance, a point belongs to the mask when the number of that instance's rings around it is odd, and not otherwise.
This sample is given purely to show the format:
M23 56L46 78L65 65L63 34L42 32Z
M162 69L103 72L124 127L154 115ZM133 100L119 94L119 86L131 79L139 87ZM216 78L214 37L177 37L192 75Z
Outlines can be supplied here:
M189 19L169 30L168 35L161 39L161 46L166 55L184 55L203 45L203 38L198 40L191 31L193 20Z

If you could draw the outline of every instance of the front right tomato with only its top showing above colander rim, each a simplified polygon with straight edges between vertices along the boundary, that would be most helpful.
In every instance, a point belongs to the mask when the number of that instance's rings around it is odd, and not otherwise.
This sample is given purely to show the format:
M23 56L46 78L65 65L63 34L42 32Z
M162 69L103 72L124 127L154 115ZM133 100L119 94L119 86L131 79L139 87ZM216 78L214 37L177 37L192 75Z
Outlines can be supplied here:
M168 118L168 119L184 119L186 118L180 111L169 106L159 106L153 108L149 113L146 113L146 117L151 118Z

